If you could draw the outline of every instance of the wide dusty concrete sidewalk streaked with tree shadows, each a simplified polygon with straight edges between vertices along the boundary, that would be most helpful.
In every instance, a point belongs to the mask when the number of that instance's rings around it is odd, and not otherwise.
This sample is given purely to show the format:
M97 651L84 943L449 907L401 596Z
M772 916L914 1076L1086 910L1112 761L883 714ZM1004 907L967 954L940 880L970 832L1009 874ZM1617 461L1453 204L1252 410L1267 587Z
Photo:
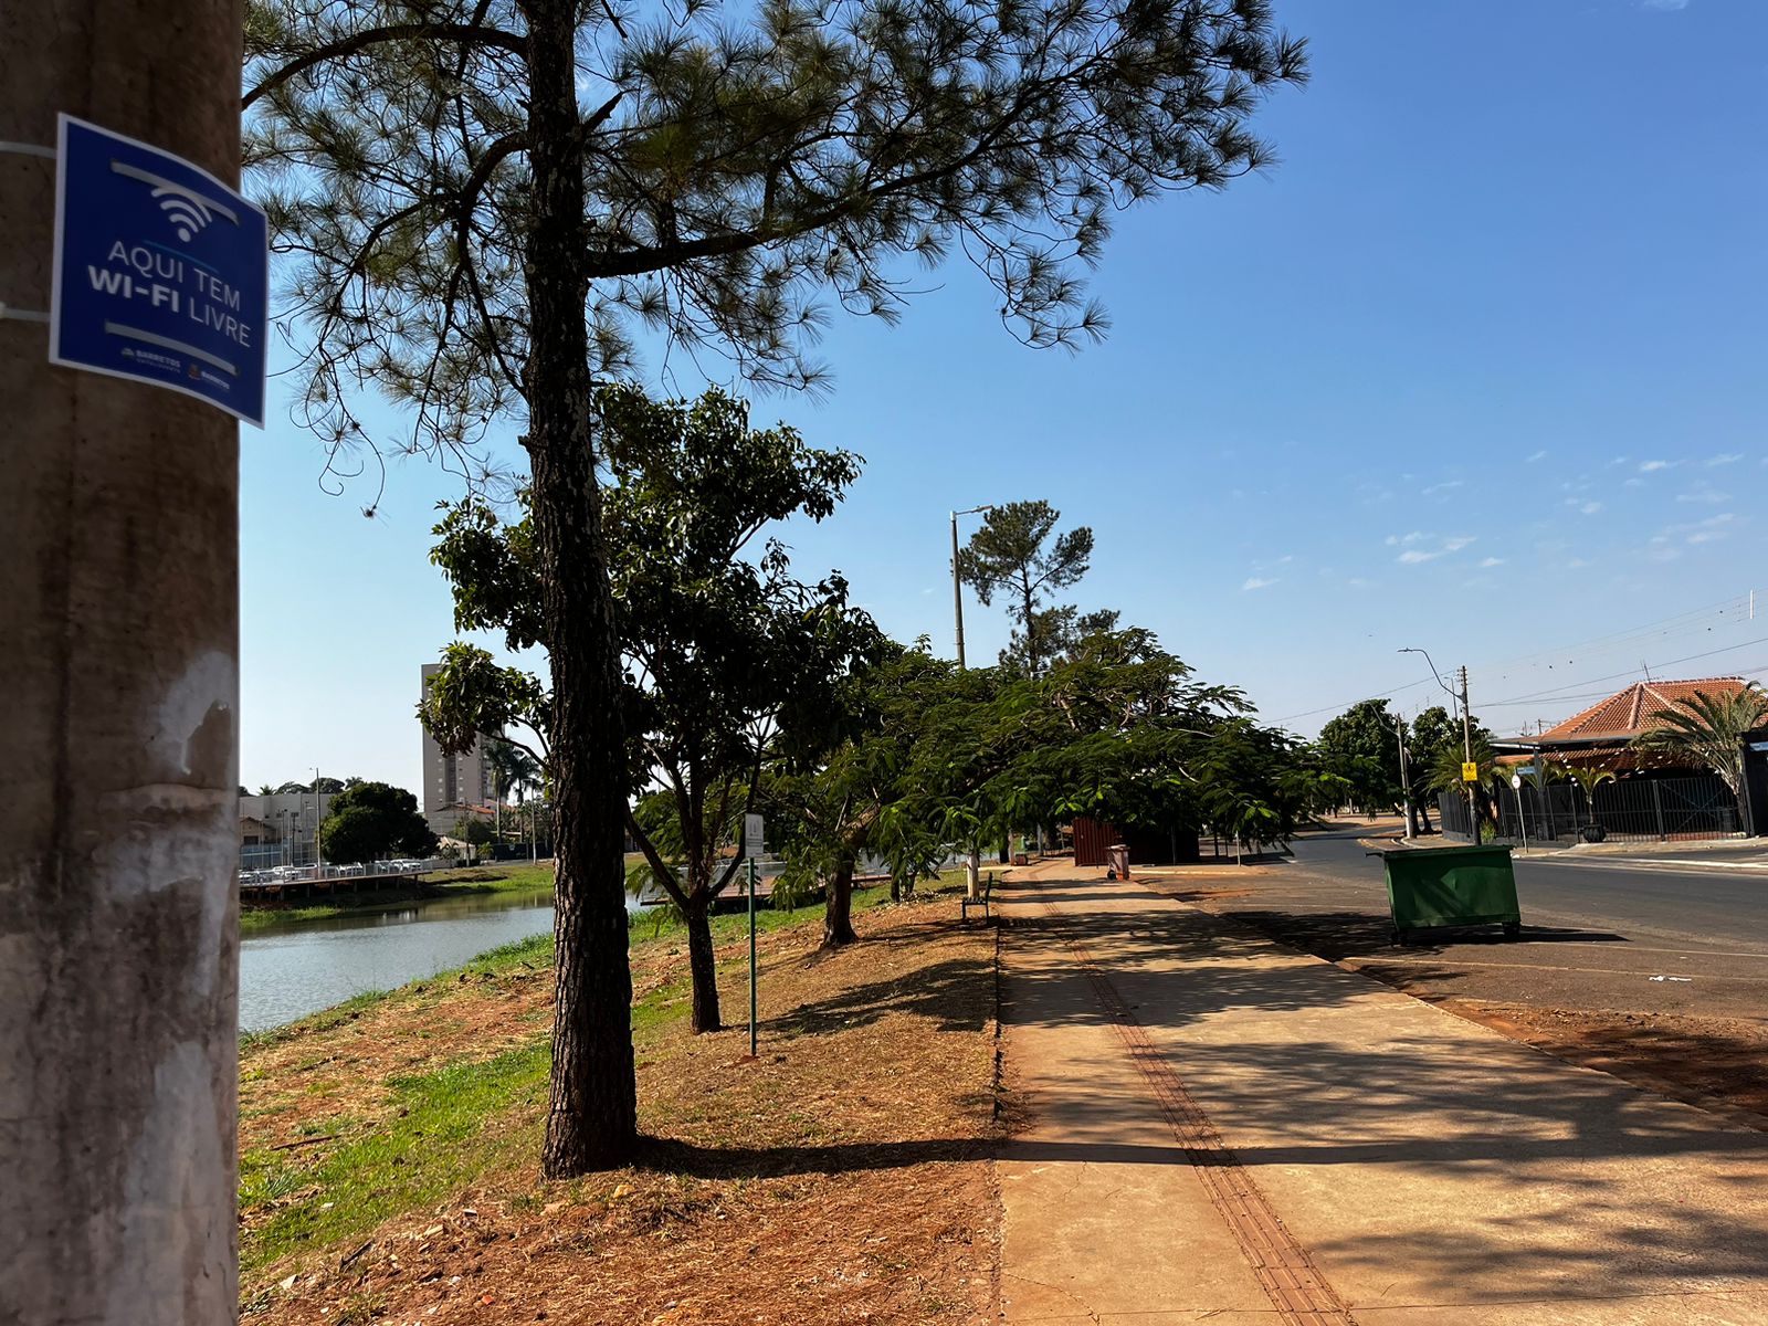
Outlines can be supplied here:
M1006 1321L1768 1322L1768 1135L1101 873L1002 886Z

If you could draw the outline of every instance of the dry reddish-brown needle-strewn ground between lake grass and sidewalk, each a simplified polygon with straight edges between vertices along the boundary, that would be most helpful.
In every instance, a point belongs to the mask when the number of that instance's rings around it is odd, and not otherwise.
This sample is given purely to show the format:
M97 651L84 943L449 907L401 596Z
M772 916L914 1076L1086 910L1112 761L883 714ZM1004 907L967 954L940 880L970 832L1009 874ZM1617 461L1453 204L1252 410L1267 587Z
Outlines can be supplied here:
M921 902L856 916L865 942L819 955L806 919L764 941L758 1061L746 1025L697 1038L675 1017L640 1034L640 1167L548 1183L523 1146L516 1165L350 1246L260 1268L246 1319L992 1319L997 932L958 925L955 900ZM735 956L721 953L727 1020L746 1011ZM635 985L677 981L684 962L640 964ZM506 972L248 1052L242 1147L373 1119L389 1077L543 1036L548 1004L548 971ZM541 1112L484 1126L537 1142Z

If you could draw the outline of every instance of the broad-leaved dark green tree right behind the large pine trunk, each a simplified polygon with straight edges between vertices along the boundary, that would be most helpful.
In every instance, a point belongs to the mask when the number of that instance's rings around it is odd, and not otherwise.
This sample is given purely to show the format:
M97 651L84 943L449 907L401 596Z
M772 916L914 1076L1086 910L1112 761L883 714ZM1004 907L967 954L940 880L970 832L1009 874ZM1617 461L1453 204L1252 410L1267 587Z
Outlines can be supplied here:
M598 408L624 658L621 787L628 796L661 789L645 815L622 806L622 822L686 923L693 1027L716 1031L709 918L741 866L721 849L781 734L820 725L831 688L879 642L872 621L847 605L840 575L797 580L785 546L762 534L790 516L829 516L859 458L808 447L785 426L750 428L748 407L720 391L656 403L608 387ZM502 629L511 649L543 644L546 587L530 518L506 523L488 502L465 499L437 534L433 560L454 589L456 626ZM534 677L497 668L470 645L444 656L419 713L444 750L502 721L536 732L557 762L557 705L548 711Z

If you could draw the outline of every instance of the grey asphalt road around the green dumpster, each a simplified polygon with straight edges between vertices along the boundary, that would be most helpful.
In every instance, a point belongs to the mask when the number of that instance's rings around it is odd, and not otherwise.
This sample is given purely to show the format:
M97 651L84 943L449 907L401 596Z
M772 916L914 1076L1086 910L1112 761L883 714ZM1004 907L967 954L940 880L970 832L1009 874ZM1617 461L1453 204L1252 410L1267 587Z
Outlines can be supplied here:
M1727 868L1713 865L1718 854L1699 861L1692 852L1690 865L1519 859L1519 939L1496 926L1443 930L1395 948L1381 861L1356 842L1367 833L1308 834L1294 842L1292 861L1160 886L1397 985L1494 1002L1768 1022L1768 868Z

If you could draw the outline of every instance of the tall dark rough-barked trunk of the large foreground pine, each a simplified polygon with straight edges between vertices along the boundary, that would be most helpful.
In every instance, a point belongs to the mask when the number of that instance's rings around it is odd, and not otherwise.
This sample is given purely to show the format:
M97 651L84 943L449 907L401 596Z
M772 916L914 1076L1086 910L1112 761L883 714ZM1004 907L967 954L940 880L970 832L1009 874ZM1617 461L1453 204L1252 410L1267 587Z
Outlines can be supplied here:
M619 642L601 541L591 437L583 147L573 62L576 7L527 0L534 216L529 435L534 534L552 663L555 916L552 1101L541 1170L583 1174L631 1160L633 981L626 955L624 735Z

